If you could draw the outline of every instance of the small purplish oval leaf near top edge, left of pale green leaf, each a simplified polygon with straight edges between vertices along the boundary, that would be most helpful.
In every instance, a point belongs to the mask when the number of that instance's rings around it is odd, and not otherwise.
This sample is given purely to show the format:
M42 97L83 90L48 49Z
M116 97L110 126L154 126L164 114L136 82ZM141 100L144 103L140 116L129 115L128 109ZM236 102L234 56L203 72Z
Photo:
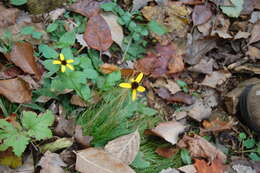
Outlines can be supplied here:
M212 12L209 4L195 6L192 13L192 20L194 25L204 24L211 17L212 17Z

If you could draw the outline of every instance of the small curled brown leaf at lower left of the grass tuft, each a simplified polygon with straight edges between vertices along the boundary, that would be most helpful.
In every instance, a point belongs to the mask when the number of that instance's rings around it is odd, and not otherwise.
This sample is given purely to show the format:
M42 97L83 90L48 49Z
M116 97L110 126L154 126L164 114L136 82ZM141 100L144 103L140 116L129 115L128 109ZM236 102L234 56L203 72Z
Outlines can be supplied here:
M82 130L82 127L80 125L77 125L76 126L76 129L75 129L75 140L82 146L84 147L89 147L90 146L90 142L91 140L93 139L92 136L85 136L83 134L83 130Z

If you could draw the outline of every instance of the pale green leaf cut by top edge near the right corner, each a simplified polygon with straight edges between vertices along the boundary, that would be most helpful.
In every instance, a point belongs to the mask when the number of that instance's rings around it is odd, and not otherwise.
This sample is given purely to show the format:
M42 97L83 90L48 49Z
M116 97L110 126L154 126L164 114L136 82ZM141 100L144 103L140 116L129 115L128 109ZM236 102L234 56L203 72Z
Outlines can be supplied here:
M244 0L231 0L231 2L233 6L220 6L221 10L229 17L239 17L243 10Z

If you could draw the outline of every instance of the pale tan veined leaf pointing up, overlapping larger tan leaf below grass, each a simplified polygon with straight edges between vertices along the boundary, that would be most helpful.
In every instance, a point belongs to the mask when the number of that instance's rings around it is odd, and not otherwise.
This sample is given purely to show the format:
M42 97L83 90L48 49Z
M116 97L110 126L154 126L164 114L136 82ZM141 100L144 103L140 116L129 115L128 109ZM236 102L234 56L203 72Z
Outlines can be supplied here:
M140 135L138 131L135 131L108 142L105 146L105 151L129 165L134 161L139 151L139 147Z

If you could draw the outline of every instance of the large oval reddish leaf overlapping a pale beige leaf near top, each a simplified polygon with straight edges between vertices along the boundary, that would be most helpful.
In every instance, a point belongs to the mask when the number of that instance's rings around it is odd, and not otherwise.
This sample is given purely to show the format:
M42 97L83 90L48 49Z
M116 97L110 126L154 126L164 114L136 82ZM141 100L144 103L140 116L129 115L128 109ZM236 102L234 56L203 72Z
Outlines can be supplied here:
M107 50L113 43L112 35L108 24L100 15L90 17L84 40L89 47L99 51Z

